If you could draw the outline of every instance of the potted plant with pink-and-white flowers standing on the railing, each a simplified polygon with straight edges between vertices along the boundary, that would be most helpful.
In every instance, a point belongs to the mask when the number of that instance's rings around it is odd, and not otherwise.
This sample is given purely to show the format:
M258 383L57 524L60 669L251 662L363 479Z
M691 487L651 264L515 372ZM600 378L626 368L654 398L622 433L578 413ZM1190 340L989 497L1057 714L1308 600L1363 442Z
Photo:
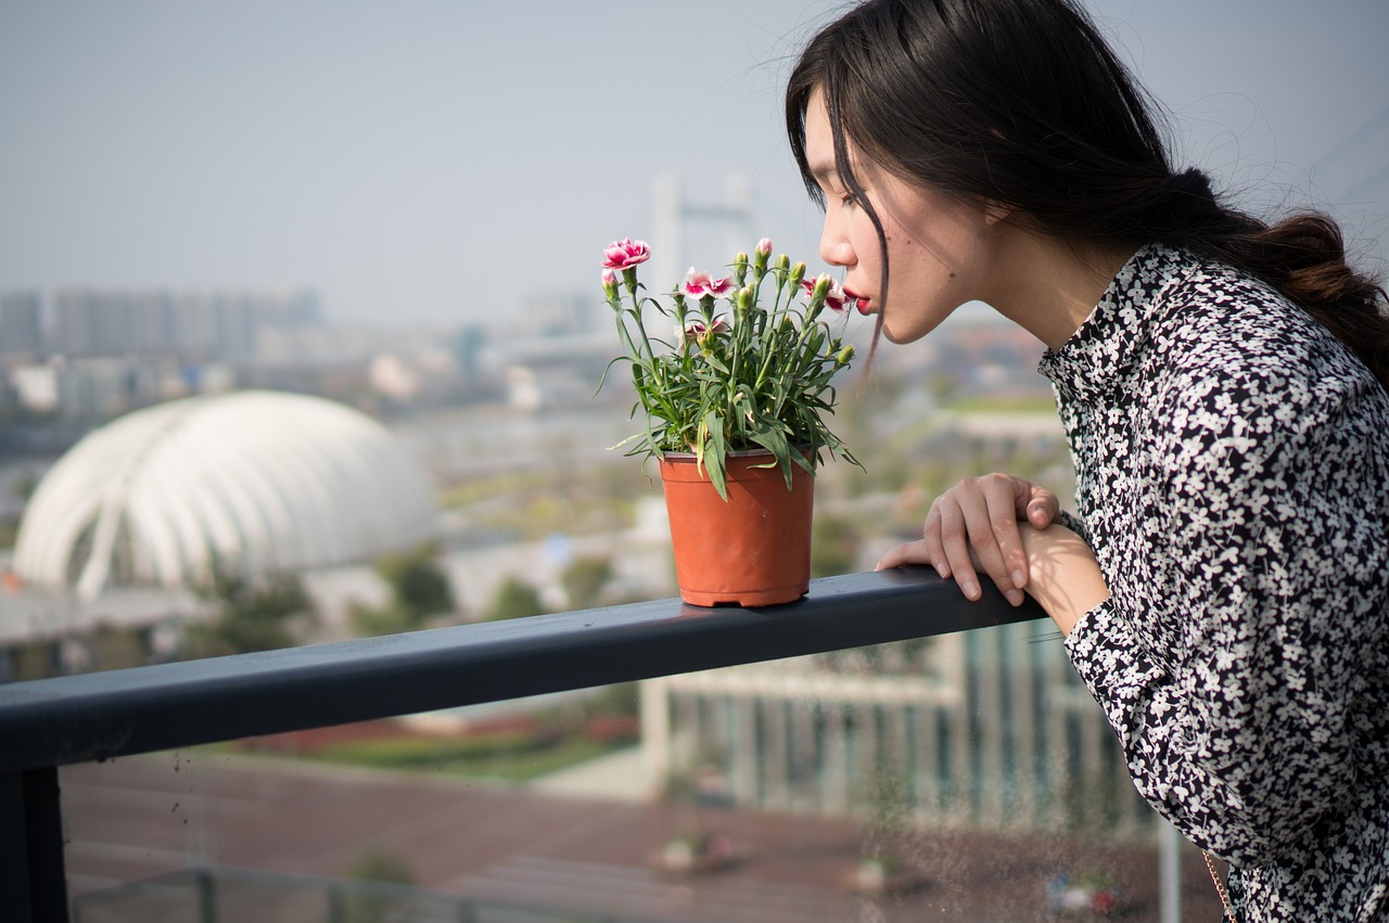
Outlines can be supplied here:
M858 464L825 425L835 375L854 355L843 325L831 323L845 315L845 293L771 253L763 239L722 278L692 268L668 300L647 297L638 280L644 243L618 240L604 253L603 291L624 348L608 371L629 364L632 416L644 422L614 448L660 459L676 582L694 605L800 598L815 466L824 452Z

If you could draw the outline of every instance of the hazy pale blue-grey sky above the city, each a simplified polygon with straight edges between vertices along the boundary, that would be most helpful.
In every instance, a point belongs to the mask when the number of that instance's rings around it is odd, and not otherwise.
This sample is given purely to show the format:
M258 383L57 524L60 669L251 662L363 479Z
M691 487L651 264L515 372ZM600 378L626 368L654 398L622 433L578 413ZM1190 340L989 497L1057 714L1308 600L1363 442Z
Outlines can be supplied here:
M665 172L694 204L747 176L757 233L814 265L781 87L840 6L0 0L0 290L308 285L335 321L478 319L658 243ZM1088 6L1179 160L1389 242L1389 3Z

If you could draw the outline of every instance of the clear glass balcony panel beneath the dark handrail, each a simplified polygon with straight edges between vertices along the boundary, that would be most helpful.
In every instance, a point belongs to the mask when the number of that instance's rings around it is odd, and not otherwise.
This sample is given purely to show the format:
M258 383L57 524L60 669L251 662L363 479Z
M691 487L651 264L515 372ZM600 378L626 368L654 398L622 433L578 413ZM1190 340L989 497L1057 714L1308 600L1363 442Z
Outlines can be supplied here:
M1163 824L1040 622L61 784L83 923L1163 919ZM1179 861L1181 919L1218 919Z

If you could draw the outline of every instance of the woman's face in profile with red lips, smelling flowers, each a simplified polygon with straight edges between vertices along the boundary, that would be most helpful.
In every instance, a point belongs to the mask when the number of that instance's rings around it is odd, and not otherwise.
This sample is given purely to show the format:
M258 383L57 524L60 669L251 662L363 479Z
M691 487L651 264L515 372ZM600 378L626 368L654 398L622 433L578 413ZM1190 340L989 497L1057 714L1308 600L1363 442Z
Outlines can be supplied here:
M849 150L854 157L851 143ZM845 293L860 300L861 311L878 312L883 304L878 235L839 180L829 114L818 90L806 107L806 158L825 193L820 255L845 266ZM996 228L1004 212L910 185L860 158L853 169L888 237L892 276L883 335L889 340L918 340L965 301L990 301Z

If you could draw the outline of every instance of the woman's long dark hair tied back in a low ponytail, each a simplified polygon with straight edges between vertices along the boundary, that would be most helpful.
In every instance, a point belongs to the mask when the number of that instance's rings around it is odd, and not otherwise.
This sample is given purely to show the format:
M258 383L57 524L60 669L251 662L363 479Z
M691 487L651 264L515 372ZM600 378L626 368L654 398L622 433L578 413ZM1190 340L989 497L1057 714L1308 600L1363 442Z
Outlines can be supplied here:
M1389 390L1385 291L1346 262L1336 222L1308 211L1270 225L1224 203L1200 169L1174 171L1157 107L1071 0L867 0L822 29L790 75L786 130L824 204L806 160L817 89L839 179L878 229L881 308L886 239L846 139L907 180L1007 204L1061 240L1183 246L1243 269L1317 318Z

